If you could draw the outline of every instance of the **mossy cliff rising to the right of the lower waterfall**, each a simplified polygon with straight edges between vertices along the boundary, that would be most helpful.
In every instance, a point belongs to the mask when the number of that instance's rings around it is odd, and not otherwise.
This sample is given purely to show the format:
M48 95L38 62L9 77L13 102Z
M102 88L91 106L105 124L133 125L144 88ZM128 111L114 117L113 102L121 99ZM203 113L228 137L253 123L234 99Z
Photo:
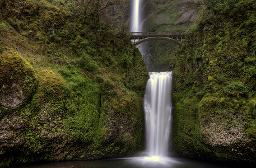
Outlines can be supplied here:
M174 74L174 150L255 162L255 1L204 1Z

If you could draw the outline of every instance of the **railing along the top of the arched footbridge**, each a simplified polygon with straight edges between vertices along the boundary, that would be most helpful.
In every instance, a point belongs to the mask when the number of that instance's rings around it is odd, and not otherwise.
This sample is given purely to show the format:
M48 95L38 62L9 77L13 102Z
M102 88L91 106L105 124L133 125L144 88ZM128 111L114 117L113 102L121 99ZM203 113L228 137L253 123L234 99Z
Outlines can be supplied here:
M185 36L184 32L180 32L180 31L146 31L146 32L129 32L130 36Z

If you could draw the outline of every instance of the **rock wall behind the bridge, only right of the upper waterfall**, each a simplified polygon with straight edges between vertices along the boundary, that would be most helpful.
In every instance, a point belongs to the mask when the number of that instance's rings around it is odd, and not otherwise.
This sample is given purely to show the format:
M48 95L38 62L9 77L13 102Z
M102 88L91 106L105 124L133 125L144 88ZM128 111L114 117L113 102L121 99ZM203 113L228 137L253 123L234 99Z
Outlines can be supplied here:
M194 1L144 1L145 30L147 31L185 31L197 15ZM147 52L143 59L148 71L169 71L169 63L175 58L176 44L169 41L154 40L146 44Z

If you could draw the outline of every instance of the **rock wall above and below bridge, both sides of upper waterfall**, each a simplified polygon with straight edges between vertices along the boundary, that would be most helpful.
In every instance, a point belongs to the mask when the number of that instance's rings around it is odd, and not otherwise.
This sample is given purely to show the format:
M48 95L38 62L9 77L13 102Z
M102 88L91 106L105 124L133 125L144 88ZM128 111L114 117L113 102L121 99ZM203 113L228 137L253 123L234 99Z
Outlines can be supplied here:
M118 1L119 2L119 1ZM143 31L185 31L192 25L197 16L197 6L193 0L143 0ZM133 1L120 1L113 4L106 12L115 27L131 26ZM115 17L114 17L115 16ZM176 44L163 40L143 43L146 48L142 53L148 71L169 71L170 55L175 53Z

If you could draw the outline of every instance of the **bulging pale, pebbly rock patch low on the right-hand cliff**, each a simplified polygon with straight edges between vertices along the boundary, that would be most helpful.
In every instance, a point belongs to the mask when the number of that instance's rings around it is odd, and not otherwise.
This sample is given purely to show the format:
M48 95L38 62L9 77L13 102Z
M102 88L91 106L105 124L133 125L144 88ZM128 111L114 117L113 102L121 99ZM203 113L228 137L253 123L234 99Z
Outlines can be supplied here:
M218 105L218 103L215 109L206 110L204 107L208 107L212 99L215 99L212 95L205 96L199 103L200 132L204 142L209 146L227 147L243 141L252 141L244 131L245 116L240 113L230 115L231 111L222 108L222 105ZM226 116L229 116L229 121Z

